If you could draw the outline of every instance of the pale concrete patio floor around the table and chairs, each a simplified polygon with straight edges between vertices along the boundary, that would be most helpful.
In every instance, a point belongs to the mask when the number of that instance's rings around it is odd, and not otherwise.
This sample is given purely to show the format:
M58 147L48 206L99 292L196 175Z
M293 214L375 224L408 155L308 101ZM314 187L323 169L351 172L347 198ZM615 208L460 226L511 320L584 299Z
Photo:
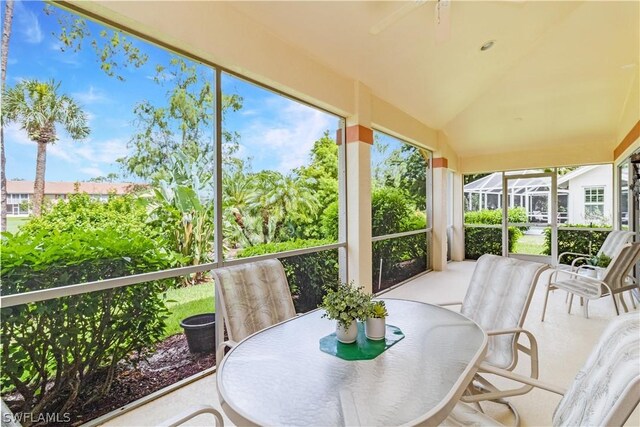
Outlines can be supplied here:
M384 294L388 298L401 298L428 303L461 301L466 292L475 263L454 262L448 270L431 272L416 278ZM555 292L549 297L549 306L544 322L540 322L545 284L548 274L540 278L531 307L525 321L525 328L536 336L539 345L540 379L566 388L578 369L586 360L607 322L615 317L609 298L602 298L589 304L589 319L582 315L581 307L574 301L572 314L567 314L565 294ZM628 301L628 298L627 298ZM630 309L632 309L630 307ZM637 312L637 309L635 310ZM524 371L524 370L523 370ZM522 426L549 426L553 410L560 396L534 389L524 396L509 399L520 412ZM219 408L216 393L215 374L184 386L166 396L144 406L124 413L104 425L106 426L153 426L189 406L210 404ZM513 425L513 419L502 405L488 404L486 411L506 425ZM213 425L211 415L200 415L185 425ZM225 424L232 425L228 419ZM640 410L636 408L626 423L640 426Z

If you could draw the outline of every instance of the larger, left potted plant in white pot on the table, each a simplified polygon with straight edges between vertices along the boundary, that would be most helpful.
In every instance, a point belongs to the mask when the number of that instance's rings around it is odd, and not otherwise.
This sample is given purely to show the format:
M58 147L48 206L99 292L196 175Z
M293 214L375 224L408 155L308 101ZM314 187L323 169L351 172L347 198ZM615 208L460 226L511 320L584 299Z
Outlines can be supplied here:
M353 283L338 283L326 289L320 308L325 310L322 317L336 321L336 338L344 344L354 342L358 337L357 320L367 317L371 297Z

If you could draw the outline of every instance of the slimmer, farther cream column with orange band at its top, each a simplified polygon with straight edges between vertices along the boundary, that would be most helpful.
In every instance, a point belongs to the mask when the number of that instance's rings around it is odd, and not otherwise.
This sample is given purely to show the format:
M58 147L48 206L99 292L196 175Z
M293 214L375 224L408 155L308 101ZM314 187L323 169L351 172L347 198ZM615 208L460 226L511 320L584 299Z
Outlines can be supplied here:
M447 167L444 157L434 157L433 174L433 215L431 261L435 271L447 269Z

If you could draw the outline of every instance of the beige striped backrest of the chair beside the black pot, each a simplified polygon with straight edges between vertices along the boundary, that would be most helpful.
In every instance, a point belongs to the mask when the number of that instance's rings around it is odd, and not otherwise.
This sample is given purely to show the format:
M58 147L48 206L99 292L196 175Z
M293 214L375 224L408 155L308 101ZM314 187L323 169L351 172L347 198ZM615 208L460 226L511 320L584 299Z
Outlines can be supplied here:
M212 275L230 340L240 341L296 315L277 259L217 268Z

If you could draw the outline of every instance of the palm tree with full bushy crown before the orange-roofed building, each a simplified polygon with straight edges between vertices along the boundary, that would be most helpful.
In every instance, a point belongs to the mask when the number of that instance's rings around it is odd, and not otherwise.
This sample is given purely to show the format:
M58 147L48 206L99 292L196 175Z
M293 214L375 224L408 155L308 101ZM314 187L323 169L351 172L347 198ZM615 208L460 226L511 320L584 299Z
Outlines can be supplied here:
M29 138L38 145L36 179L33 186L33 214L40 216L44 201L44 176L47 163L47 144L57 140L56 124L80 140L89 135L87 115L67 95L59 95L60 83L25 80L3 95L3 123L18 122Z

